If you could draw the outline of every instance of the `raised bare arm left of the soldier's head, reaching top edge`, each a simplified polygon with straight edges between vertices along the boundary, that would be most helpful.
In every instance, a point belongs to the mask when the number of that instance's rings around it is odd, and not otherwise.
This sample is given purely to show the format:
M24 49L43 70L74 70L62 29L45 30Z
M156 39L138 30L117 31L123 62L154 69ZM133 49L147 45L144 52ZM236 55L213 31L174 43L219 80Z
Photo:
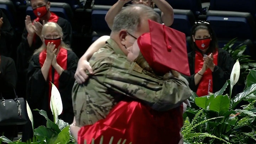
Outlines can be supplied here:
M114 17L122 10L124 4L131 0L118 0L107 12L105 16L105 21L107 22L108 27L112 30Z

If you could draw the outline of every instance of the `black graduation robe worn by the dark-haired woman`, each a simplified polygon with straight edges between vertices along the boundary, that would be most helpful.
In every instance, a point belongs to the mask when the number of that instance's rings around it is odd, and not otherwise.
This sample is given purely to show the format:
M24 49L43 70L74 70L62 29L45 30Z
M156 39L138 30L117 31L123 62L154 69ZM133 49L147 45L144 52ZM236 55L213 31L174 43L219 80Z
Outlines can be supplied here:
M197 91L198 85L194 83L194 67L195 67L195 51L188 53L188 63L191 76L185 76L189 82L190 89ZM234 60L231 55L224 49L218 49L218 64L215 66L213 75L213 93L219 91L226 80L230 79L230 74L234 65ZM206 88L207 89L207 88Z

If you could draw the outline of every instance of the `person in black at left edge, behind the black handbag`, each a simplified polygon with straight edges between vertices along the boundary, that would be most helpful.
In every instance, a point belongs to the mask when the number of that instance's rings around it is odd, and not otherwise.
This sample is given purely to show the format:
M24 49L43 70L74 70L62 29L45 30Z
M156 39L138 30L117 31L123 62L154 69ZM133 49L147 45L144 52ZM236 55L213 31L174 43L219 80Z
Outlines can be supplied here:
M15 62L12 58L1 55L0 57L0 99L14 99L17 83ZM0 103L2 105L2 103ZM17 126L0 126L0 135L12 140L17 135Z

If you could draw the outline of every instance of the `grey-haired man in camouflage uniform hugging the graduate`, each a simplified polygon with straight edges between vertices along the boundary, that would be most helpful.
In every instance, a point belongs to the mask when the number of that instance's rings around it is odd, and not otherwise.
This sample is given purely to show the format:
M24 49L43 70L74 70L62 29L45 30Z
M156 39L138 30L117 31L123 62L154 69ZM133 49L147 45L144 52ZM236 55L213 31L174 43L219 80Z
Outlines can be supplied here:
M148 75L137 63L127 61L126 47L141 34L149 32L148 19L159 15L147 6L127 6L114 19L110 39L90 59L93 74L80 85L75 82L72 98L76 125L93 124L106 117L111 108L126 97L135 98L154 110L175 108L190 96L187 80L182 76Z

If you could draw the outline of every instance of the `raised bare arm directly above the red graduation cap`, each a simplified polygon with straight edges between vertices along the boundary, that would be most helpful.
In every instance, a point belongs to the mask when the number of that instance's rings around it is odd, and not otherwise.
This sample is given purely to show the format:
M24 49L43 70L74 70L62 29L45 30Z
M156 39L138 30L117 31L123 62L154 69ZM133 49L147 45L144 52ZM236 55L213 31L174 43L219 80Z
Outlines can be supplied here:
M165 0L152 0L161 11L162 22L166 26L171 26L174 22L174 10L171 5Z

